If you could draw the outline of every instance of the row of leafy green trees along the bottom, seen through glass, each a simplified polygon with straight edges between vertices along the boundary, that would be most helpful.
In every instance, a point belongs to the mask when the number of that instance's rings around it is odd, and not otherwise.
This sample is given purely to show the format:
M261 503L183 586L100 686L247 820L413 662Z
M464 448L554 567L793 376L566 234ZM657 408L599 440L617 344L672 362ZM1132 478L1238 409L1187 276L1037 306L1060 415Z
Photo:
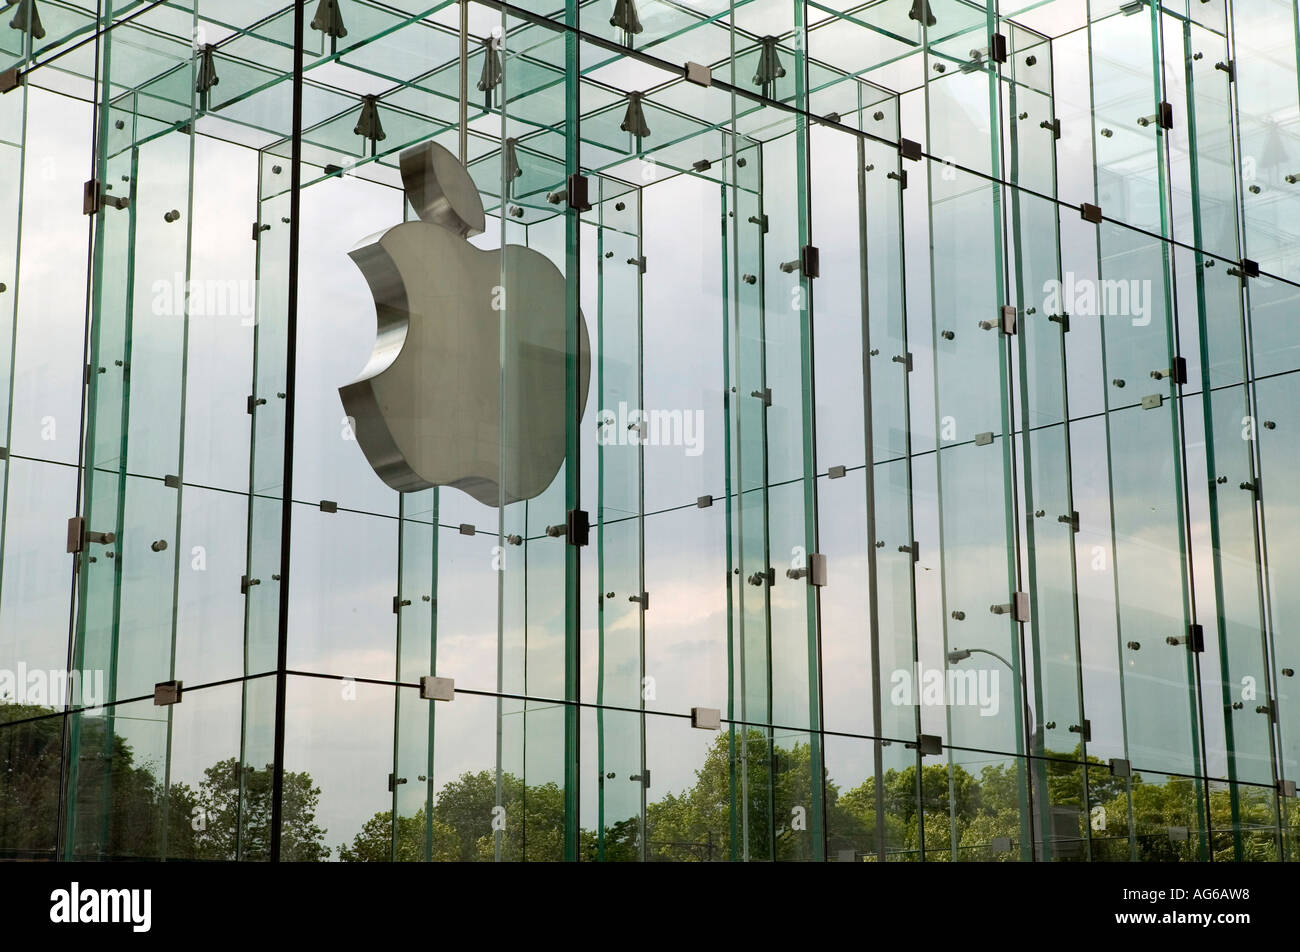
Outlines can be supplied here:
M0 704L0 849L10 857L49 857L58 822L64 719L47 707ZM34 718L34 719L32 719ZM270 765L255 769L235 758L204 770L196 788L165 786L153 765L138 763L131 745L110 730L108 717L82 717L79 760L72 809L75 852L86 857L266 860L270 848ZM734 741L734 749L733 749ZM1202 788L1187 778L1149 783L1135 774L1112 776L1108 765L1088 758L1088 802L1080 750L1046 752L1034 761L989 763L979 776L961 765L930 763L890 769L881 778L884 847L893 858L916 860L924 831L926 858L1013 861L1023 851L1027 823L1022 797L1048 792L1037 802L1053 858L1083 858L1091 830L1092 858L1187 861L1199 858L1204 828ZM823 771L824 773L824 771ZM876 780L867 778L840 792L826 783L827 852L874 856ZM1130 796L1131 783L1131 796ZM326 831L316 822L321 789L306 773L283 778L281 856L289 861L330 858ZM602 832L578 836L584 860L718 861L811 858L814 796L807 743L779 745L759 730L718 735L694 783L668 792L646 808L645 844L640 817L610 818ZM499 799L498 799L499 796ZM1040 801L1041 795L1035 797ZM498 805L504 810L498 809ZM1216 861L1278 858L1274 796L1266 788L1217 784L1209 795L1209 849ZM500 827L494 828L494 825ZM1186 830L1186 834L1183 832ZM1290 810L1286 831L1300 843L1300 812ZM338 857L348 862L562 860L564 791L554 782L525 784L514 774L465 773L434 797L433 819L421 808L411 815L374 814ZM733 843L733 838L736 841ZM992 849L1005 838L1010 851ZM1040 835L1041 839L1041 835ZM499 840L499 843L498 843ZM1036 849L1041 851L1039 844Z

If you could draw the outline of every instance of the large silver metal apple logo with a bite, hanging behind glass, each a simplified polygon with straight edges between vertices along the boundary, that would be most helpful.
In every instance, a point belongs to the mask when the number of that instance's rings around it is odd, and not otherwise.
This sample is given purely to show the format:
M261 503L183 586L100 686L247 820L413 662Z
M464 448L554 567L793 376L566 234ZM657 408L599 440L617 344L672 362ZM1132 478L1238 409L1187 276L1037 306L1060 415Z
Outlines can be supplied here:
M378 323L360 376L338 391L356 442L402 493L532 499L564 462L564 276L534 248L467 241L486 226L482 200L442 146L406 150L400 170L419 221L348 252ZM581 416L592 369L581 312L578 333Z

